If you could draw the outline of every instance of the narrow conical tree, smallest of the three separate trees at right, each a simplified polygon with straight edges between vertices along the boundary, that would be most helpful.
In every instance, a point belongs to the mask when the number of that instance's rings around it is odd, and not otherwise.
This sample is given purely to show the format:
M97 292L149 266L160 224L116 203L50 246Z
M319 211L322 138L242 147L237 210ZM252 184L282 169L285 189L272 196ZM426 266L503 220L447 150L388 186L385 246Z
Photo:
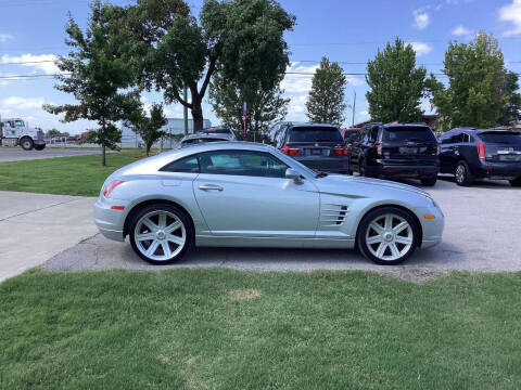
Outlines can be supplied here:
M345 120L345 86L347 79L344 70L335 62L322 57L313 76L312 90L306 102L307 117L313 122L342 126Z

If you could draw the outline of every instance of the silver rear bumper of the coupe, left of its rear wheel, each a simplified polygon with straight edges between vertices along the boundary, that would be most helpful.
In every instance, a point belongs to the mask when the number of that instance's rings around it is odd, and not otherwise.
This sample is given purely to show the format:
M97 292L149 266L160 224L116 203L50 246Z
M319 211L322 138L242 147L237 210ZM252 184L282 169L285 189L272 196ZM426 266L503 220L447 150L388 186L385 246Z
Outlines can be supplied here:
M113 206L124 206L125 210L114 210ZM94 204L94 223L106 238L124 242L123 226L127 216L127 200L100 196Z

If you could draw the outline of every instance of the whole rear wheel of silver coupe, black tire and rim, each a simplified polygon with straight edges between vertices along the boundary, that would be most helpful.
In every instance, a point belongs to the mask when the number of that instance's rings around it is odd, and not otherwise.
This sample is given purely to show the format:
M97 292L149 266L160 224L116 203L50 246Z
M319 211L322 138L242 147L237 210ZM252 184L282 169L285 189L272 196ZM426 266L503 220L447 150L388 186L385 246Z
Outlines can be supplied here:
M157 227L155 232L152 231L154 226ZM168 227L175 227L171 234L167 232ZM155 265L178 261L190 250L194 240L190 218L178 207L167 204L151 205L139 210L132 218L128 235L136 255ZM147 235L151 239L143 239Z

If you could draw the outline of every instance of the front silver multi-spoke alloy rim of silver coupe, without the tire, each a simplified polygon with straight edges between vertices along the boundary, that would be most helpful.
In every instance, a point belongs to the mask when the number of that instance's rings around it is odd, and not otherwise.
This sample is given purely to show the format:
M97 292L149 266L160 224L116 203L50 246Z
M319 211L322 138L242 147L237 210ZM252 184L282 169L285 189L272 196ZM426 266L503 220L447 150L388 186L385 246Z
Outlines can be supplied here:
M395 261L414 245L412 227L404 218L385 213L374 218L366 231L367 248L382 261Z

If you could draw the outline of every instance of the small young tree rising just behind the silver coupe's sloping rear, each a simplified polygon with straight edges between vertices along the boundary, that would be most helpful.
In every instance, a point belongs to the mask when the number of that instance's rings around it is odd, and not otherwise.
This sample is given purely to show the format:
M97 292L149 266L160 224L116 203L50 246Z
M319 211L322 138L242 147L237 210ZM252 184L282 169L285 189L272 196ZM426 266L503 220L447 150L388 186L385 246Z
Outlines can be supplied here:
M154 142L166 135L166 132L162 131L161 128L168 123L168 120L163 114L163 106L153 104L150 108L150 118L147 117L143 109L140 109L127 123L143 139L147 156L149 156Z

